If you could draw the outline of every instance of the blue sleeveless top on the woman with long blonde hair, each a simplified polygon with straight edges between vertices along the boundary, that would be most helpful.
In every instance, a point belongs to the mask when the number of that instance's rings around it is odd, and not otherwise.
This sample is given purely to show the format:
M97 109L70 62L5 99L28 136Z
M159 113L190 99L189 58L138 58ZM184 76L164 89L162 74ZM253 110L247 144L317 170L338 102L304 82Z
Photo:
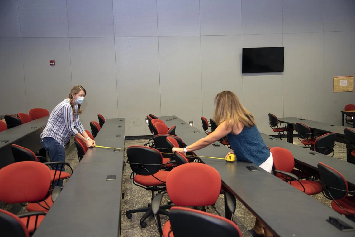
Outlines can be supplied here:
M240 134L227 135L229 145L235 153L235 157L239 161L252 162L259 166L264 163L270 156L270 150L261 138L259 130L256 126L243 128Z

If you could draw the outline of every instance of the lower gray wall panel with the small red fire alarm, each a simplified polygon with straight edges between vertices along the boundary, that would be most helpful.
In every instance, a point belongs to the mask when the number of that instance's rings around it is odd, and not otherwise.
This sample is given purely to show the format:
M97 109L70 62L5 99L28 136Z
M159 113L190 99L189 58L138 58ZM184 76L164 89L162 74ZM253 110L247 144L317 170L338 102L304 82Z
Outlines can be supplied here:
M22 47L27 110L52 111L71 89L69 39L22 38Z

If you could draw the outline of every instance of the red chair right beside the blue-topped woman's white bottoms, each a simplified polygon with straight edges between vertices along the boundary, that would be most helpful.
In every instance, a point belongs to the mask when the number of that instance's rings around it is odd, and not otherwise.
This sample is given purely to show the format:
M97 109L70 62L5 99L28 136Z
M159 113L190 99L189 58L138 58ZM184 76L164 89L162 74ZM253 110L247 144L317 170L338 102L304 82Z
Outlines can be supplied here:
M317 181L312 180L299 180L299 178L291 173L295 166L295 160L292 153L282 147L271 148L272 157L274 160L274 171L275 176L285 180L301 190L302 192L313 195L322 192L322 184Z

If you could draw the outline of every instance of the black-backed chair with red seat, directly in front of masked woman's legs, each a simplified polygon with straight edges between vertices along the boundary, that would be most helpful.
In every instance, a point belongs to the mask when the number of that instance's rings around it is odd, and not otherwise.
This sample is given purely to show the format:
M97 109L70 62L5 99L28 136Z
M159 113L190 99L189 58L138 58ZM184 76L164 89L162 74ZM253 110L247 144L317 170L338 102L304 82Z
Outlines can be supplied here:
M61 161L54 161L54 162L47 162L47 159L43 156L36 156L33 151L23 147L19 146L16 144L11 144L11 151L12 155L15 158L15 162L21 162L21 161L42 161L45 165L51 166L52 169L50 169L50 177L52 180L53 185L59 183L59 181L70 178L71 174L61 171L62 166L66 165L67 167L70 168L71 173L73 173L73 169L71 168L70 164L67 162L61 162ZM55 166L55 167L54 167ZM59 170L55 169L57 166L59 166Z

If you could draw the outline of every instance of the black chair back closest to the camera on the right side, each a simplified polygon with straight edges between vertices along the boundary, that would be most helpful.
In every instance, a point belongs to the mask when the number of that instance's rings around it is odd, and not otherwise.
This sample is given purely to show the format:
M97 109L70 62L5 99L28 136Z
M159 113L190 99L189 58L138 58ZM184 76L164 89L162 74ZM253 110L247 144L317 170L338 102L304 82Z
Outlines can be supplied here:
M329 199L341 199L348 195L348 192L341 190L348 190L348 183L344 176L337 170L329 167L321 162L318 163L318 172L321 176L321 182L323 184L323 194ZM341 190L335 190L341 189Z

